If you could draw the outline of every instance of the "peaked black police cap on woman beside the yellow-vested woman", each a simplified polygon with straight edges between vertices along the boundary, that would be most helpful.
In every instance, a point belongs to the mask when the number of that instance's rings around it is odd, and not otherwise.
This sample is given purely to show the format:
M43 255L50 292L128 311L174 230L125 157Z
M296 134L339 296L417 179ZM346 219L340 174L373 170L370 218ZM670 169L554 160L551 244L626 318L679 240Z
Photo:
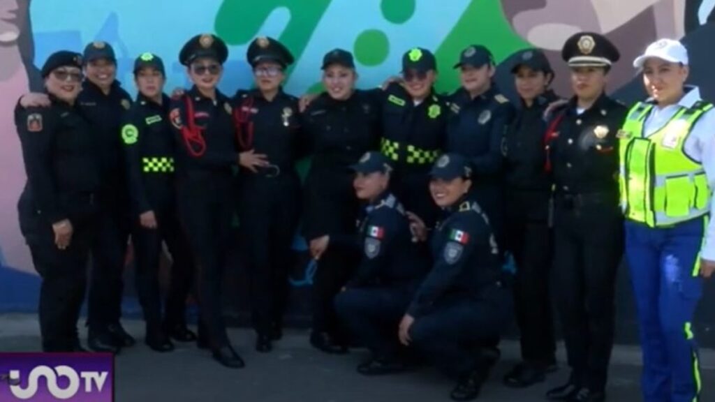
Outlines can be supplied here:
M571 67L608 67L621 54L611 41L595 32L579 32L566 39L561 58Z

